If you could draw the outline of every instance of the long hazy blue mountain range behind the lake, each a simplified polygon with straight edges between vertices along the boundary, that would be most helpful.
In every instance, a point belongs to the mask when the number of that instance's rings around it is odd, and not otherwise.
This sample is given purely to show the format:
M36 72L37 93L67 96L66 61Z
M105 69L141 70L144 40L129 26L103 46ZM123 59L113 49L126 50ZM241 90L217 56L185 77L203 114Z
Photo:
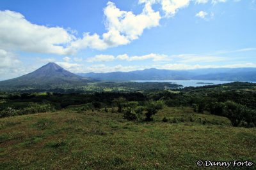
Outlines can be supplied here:
M226 80L256 81L256 68L210 68L190 70L144 69L112 73L79 73L79 76L105 81L129 80Z

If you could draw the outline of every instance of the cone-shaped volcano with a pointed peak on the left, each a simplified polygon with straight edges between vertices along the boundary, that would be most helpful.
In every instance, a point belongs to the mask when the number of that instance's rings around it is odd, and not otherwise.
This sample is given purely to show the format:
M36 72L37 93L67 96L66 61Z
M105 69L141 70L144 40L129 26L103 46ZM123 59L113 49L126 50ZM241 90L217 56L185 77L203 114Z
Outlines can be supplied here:
M20 76L18 78L0 81L0 89L10 89L15 87L57 87L58 85L83 84L90 80L91 79L70 73L57 64L49 62L32 73Z

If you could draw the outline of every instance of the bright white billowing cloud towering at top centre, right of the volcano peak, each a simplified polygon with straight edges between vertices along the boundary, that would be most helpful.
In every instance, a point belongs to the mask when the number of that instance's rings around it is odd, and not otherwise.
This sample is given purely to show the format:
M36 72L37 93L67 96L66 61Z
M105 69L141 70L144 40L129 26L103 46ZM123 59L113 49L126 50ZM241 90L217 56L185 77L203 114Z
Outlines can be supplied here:
M152 10L149 4L145 5L140 14L134 15L131 11L122 11L116 8L114 3L108 2L104 15L108 32L102 34L102 38L98 34L84 33L83 38L72 42L70 47L72 50L81 48L104 50L113 46L127 45L132 40L138 39L145 29L158 26L161 19L159 12Z

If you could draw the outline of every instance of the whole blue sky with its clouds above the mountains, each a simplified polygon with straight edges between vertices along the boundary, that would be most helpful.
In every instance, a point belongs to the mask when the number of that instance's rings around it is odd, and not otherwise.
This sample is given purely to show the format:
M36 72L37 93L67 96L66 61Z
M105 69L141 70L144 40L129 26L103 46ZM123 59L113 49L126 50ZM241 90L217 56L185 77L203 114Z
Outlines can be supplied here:
M255 0L0 1L0 80L56 62L74 73L256 67Z

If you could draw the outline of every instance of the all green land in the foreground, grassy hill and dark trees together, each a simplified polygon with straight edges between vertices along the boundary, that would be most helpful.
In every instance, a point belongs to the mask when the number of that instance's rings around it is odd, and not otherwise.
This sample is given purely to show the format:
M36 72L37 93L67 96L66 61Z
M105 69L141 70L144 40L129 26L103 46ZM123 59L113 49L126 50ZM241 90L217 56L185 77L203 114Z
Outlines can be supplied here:
M256 162L255 84L0 93L0 169L197 169ZM252 167L253 169L253 167Z

